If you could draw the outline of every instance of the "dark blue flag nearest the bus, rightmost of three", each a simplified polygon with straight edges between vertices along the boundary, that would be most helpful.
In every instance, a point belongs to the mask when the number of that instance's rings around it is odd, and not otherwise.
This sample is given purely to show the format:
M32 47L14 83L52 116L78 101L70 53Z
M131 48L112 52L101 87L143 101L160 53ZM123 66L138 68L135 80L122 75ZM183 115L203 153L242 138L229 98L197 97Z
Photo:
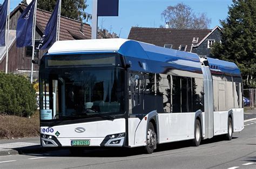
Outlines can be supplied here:
M41 40L39 46L37 47L39 50L45 50L46 48L49 48L56 41L58 11L59 11L59 7L60 7L59 2L60 1L57 0L56 6L52 12L49 22L45 27L44 35L42 37L42 40Z

